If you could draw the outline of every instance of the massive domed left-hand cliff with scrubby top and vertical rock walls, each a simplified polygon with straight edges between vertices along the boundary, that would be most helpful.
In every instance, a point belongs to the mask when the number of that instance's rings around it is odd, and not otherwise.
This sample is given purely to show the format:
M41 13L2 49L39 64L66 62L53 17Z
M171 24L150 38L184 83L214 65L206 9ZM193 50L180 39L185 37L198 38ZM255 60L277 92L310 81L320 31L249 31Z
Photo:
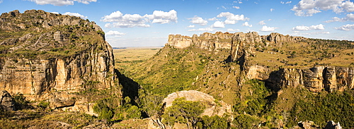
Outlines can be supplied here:
M77 104L72 92L116 86L113 49L89 20L11 11L0 16L0 37L0 90L55 109Z

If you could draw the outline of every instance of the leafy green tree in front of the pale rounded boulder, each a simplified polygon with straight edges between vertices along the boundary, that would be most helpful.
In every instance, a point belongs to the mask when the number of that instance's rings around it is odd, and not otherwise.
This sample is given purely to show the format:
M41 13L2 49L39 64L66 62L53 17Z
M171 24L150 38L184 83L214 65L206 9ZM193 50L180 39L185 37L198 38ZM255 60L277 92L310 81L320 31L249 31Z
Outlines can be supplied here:
M166 108L163 118L168 120L165 123L169 125L179 122L186 123L188 128L190 128L190 124L195 128L204 109L205 106L200 102L187 101L184 97L178 98L172 102L172 106Z

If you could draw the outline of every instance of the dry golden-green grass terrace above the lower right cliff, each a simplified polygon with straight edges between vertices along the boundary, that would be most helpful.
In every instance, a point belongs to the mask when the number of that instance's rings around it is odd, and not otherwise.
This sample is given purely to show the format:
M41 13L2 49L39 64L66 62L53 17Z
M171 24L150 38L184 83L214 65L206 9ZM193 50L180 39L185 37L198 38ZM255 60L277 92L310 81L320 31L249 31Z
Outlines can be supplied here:
M273 51L278 49L278 51ZM264 51L256 51L251 63L261 66L308 67L308 66L343 66L353 67L354 49L321 48L313 49L310 44L284 44L283 47L267 47ZM295 53L295 56L292 56ZM331 55L331 57L326 56ZM334 56L332 56L334 55Z

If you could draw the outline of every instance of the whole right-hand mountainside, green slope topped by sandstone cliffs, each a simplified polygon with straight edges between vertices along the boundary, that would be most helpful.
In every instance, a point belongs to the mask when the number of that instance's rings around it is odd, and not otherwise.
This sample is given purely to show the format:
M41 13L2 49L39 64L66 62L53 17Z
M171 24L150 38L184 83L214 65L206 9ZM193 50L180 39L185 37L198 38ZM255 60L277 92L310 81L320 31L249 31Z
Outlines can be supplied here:
M198 90L232 104L236 128L299 121L353 128L353 52L353 42L278 33L170 35L155 56L124 73L141 94Z

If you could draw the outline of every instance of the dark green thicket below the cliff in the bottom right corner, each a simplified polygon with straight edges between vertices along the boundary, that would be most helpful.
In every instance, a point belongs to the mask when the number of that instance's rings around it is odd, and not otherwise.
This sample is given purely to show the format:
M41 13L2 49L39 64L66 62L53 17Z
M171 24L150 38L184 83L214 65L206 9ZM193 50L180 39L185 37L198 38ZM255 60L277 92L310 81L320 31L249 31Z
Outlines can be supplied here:
M354 128L354 92L308 92L306 98L299 99L290 111L290 120L314 121L321 127L326 121L338 121L342 127ZM297 121L290 121L287 125L295 125Z

